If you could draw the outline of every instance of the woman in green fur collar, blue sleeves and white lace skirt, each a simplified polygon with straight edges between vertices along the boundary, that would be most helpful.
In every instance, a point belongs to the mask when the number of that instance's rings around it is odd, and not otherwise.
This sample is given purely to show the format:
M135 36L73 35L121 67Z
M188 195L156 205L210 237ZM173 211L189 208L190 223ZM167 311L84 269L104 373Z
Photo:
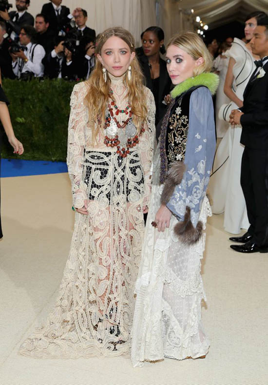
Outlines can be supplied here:
M175 35L167 69L175 85L153 160L152 196L136 282L132 362L204 358L209 350L201 320L200 274L206 196L216 139L213 118L217 75L198 35Z

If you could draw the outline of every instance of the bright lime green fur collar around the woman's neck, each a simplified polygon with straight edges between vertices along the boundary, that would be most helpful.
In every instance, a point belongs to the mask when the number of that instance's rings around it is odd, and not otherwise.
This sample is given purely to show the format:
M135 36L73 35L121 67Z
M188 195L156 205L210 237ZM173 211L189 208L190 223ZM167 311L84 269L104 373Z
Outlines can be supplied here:
M181 95L183 92L189 90L191 87L205 86L208 87L211 94L214 95L219 85L219 77L211 72L204 72L203 74L197 75L196 77L189 77L182 83L177 84L172 92L172 98Z

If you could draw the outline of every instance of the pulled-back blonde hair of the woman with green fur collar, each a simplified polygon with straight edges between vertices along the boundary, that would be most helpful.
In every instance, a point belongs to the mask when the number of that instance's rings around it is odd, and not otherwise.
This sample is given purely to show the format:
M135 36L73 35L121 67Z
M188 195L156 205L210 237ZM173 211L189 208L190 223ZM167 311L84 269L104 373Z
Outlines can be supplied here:
M211 72L213 58L208 51L204 41L194 32L184 32L172 36L168 42L168 46L176 45L190 55L194 60L203 58L204 63L200 64L193 70L193 76L202 74L203 72Z

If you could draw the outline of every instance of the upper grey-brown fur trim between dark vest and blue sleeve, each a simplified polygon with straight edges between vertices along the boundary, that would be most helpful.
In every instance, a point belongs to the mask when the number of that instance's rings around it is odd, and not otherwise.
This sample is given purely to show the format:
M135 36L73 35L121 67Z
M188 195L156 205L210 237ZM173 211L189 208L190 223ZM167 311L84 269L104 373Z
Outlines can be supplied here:
M182 181L183 174L185 173L186 166L180 160L172 163L172 166L168 172L167 179L165 181L165 186L161 195L162 205L166 205L174 192L176 185L179 185Z

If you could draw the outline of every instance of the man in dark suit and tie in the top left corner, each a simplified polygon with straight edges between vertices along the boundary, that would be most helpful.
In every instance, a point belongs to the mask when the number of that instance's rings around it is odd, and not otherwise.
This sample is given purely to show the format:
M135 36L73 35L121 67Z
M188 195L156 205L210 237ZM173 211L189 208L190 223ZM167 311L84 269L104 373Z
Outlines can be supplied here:
M30 0L16 0L17 11L0 11L0 17L7 23L8 34L12 40L19 40L22 25L34 25L35 19L27 12Z

